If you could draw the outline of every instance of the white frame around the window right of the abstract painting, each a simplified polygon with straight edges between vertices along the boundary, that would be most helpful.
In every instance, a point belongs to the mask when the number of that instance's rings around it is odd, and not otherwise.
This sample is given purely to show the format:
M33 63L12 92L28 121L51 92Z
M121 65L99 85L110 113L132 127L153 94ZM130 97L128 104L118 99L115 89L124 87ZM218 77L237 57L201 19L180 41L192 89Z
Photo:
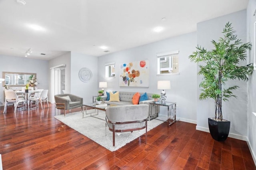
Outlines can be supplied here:
M166 53L158 53L156 54L156 57L157 57L157 75L176 75L176 74L179 74L179 73L161 73L161 71L169 71L171 72L173 70L173 59L172 57L174 55L179 55L179 51L170 51L170 52L166 52ZM160 58L165 58L166 61L164 60L160 60ZM160 68L160 63L162 62L167 62L167 57L169 57L169 59L171 60L169 62L169 67L164 67L164 68Z

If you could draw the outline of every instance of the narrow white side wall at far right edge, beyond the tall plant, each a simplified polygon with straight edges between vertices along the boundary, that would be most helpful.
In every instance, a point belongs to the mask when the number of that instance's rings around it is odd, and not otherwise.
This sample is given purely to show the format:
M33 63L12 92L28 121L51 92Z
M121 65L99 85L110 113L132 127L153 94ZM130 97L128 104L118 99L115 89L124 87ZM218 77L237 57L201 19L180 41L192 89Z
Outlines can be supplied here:
M252 50L249 52L250 63L254 63L254 50L255 50L255 42L254 42L254 21L256 20L256 16L253 16L254 11L256 10L256 1L249 0L247 7L247 41L252 42ZM256 71L252 73L252 76L248 83L248 126L247 126L247 136L248 136L248 144L251 148L252 157L254 158L254 162L256 164L256 115L252 112L256 113Z

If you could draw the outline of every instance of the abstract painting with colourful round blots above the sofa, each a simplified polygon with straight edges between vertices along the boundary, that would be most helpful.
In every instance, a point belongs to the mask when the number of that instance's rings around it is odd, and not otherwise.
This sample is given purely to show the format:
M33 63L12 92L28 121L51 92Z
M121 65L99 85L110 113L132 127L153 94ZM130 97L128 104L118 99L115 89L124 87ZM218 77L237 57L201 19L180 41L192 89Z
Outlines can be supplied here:
M120 87L149 87L148 60L122 63L119 84Z

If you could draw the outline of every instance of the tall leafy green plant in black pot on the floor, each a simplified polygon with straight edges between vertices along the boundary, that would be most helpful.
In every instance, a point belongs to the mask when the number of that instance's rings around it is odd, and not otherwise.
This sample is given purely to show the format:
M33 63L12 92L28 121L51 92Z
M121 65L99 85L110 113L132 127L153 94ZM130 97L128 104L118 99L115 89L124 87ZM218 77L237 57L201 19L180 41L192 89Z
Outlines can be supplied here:
M227 87L228 80L248 81L252 75L253 66L240 65L240 61L246 60L246 51L251 49L251 43L242 43L237 39L231 23L227 23L223 29L224 37L218 42L212 40L214 48L206 50L204 47L197 46L196 52L189 56L191 61L202 63L199 65L198 75L203 79L200 83L200 100L211 98L215 103L215 117L208 118L209 130L212 138L224 141L228 137L230 121L226 121L222 116L222 101L228 101L237 85Z

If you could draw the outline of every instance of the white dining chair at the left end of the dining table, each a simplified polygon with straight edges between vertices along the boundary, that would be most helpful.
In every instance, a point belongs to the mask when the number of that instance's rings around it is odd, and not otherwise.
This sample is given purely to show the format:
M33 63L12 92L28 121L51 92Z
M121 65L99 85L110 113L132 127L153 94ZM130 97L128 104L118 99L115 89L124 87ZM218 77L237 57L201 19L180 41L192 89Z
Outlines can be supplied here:
M17 107L25 107L26 99L22 95L17 95L15 91L5 90L5 102L4 102L4 113L7 110L8 103L14 103L14 113L16 112ZM22 105L20 105L22 103Z

